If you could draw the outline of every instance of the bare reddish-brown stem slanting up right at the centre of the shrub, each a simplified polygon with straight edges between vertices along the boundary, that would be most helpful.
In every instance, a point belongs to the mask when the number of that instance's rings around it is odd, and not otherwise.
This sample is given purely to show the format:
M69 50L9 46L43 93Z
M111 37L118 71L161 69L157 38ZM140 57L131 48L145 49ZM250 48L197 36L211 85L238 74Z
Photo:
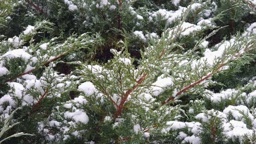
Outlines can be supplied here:
M129 91L127 91L127 92L123 95L123 97L121 97L120 104L119 104L119 106L117 107L117 111L115 112L115 115L114 115L115 118L118 118L118 117L121 115L121 113L123 112L124 104L125 104L125 102L127 101L127 98L129 97L129 95L130 95L133 91L135 91L136 88L139 87L139 85L141 85L141 83L146 79L146 76L147 76L147 73L145 73L141 78L139 78L138 81L136 81L136 82L137 82L137 85L135 85L132 89L130 89ZM114 118L114 119L115 119L115 118Z

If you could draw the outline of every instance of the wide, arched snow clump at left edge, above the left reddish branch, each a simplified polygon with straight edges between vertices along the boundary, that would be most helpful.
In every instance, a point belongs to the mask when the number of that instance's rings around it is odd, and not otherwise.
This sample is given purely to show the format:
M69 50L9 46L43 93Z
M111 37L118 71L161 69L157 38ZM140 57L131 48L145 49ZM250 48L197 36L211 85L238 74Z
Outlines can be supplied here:
M27 52L25 52L24 49L16 49L16 50L8 51L3 55L3 57L6 57L8 59L21 57L27 62L32 56Z

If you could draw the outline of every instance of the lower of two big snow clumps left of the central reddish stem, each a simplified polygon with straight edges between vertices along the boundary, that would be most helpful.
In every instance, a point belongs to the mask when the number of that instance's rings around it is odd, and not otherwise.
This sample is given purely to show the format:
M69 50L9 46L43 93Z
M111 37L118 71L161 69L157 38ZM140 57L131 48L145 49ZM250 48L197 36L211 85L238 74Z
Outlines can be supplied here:
M72 118L75 122L88 123L89 117L82 110L75 110L74 112L66 111L64 113L66 118Z

